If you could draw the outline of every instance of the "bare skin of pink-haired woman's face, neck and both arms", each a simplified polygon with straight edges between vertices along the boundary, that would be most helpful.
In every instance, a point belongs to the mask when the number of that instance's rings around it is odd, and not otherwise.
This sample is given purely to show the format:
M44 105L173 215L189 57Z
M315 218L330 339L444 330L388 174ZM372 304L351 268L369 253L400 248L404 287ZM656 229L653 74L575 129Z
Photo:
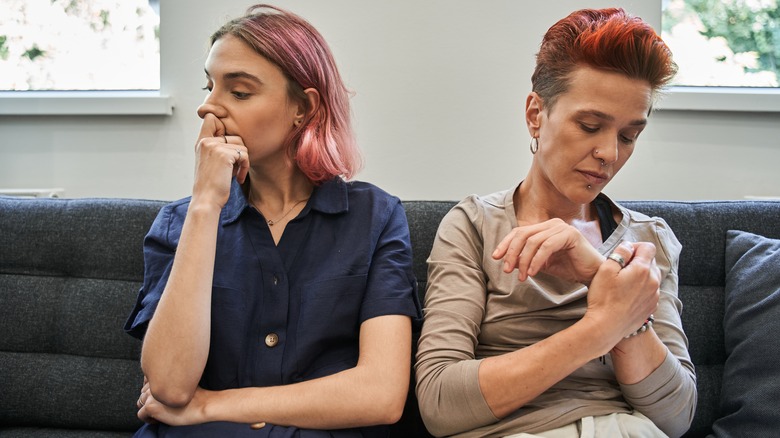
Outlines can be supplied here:
M233 36L212 46L206 61L209 94L195 148L192 199L170 278L144 338L145 379L138 417L189 425L230 421L332 429L392 423L409 385L411 321L388 315L360 326L354 368L291 385L208 391L198 386L210 345L211 287L219 214L231 179L248 178L249 201L276 222L275 242L305 206L313 184L291 162L284 139L316 110L288 93L282 71ZM298 203L296 205L296 203ZM249 426L248 426L249 427Z

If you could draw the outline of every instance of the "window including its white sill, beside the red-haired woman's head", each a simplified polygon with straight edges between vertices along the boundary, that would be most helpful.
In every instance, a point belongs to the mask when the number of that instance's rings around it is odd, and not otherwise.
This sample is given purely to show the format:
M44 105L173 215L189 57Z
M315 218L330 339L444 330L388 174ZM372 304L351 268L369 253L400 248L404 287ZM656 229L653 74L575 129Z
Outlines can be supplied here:
M663 0L662 37L679 67L662 108L780 111L777 0Z

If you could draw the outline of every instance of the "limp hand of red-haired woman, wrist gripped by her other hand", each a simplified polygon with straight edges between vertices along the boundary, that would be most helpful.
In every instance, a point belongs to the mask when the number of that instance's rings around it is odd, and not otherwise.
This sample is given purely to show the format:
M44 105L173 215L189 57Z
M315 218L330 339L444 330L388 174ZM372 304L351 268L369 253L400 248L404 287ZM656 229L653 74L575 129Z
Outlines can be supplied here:
M579 230L557 218L514 228L492 256L503 259L504 272L517 269L520 281L545 272L584 284L605 260Z

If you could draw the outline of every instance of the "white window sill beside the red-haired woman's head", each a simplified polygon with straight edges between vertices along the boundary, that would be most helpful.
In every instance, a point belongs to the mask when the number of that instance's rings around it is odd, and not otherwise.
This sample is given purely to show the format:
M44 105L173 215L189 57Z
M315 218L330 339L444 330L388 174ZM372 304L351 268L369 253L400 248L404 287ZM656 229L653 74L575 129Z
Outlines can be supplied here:
M780 112L780 89L669 87L656 109L673 111Z

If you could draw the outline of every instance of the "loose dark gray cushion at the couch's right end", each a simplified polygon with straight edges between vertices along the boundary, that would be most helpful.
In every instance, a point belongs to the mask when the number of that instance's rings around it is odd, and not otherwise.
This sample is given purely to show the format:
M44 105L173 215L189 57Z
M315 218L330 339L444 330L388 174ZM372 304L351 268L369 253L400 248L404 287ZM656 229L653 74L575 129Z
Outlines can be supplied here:
M773 436L780 430L780 240L726 233L723 370L717 436Z

